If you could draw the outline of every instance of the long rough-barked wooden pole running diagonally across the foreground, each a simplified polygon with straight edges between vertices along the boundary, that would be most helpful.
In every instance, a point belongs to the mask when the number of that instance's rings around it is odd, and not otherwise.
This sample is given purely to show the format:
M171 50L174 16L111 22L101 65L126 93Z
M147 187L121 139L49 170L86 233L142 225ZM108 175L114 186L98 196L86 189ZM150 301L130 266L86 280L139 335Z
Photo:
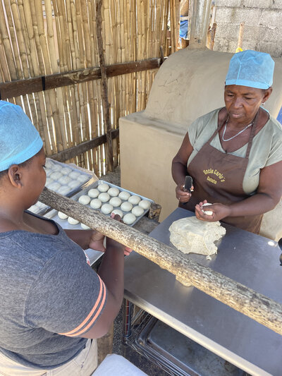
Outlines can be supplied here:
M195 286L218 301L282 335L281 303L273 301L223 274L214 272L209 267L198 264L185 257L179 250L47 188L44 188L39 200L134 249L135 252L155 262L162 269L175 274L182 283Z

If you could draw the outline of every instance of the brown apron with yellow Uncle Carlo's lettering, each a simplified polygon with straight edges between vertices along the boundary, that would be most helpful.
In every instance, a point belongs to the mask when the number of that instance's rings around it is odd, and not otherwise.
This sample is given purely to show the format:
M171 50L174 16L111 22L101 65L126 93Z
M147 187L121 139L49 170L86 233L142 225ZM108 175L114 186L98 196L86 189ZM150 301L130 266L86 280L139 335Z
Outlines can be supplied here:
M245 158L221 152L210 145L210 142L219 133L225 121L226 119L221 126L216 128L212 137L202 146L202 149L195 155L188 166L188 174L193 178L195 191L192 193L189 202L179 204L184 209L195 212L195 205L203 200L207 200L211 204L221 202L221 204L230 205L233 202L242 201L250 197L243 190L243 178L247 169L257 119L255 119L252 126ZM226 217L222 222L259 234L262 214L245 217Z

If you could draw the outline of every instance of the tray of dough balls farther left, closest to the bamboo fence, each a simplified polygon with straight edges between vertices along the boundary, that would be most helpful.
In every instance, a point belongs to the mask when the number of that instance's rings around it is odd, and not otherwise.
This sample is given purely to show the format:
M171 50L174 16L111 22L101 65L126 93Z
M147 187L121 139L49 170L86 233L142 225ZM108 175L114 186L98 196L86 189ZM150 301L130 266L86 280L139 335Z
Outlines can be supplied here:
M75 165L57 162L53 159L46 159L46 184L47 188L60 193L63 196L71 196L77 190L92 184L94 178L92 174L75 169ZM36 214L44 214L50 207L37 202L28 210Z

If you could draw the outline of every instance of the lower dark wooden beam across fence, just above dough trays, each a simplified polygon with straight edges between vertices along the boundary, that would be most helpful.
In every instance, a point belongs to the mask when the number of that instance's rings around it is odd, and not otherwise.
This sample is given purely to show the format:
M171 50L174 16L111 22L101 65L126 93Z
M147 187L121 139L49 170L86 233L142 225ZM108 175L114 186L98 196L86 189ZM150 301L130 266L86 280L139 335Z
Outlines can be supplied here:
M111 138L117 138L119 135L119 129L113 129L111 131ZM98 147L106 143L106 135L100 135L98 137L93 138L92 140L82 142L79 145L75 145L70 147L69 149L63 150L57 154L50 155L50 158L55 159L59 162L68 161L68 159L72 159L77 157L78 155L87 152L87 150L94 149L94 147Z

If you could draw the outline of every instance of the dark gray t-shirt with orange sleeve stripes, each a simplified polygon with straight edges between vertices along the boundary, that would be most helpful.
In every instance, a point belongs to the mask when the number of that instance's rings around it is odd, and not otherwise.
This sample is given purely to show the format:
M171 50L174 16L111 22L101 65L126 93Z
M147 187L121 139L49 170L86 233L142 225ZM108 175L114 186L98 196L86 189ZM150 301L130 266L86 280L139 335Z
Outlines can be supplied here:
M55 225L57 235L0 234L0 351L39 369L77 356L87 341L79 336L106 304L104 282L82 248Z

